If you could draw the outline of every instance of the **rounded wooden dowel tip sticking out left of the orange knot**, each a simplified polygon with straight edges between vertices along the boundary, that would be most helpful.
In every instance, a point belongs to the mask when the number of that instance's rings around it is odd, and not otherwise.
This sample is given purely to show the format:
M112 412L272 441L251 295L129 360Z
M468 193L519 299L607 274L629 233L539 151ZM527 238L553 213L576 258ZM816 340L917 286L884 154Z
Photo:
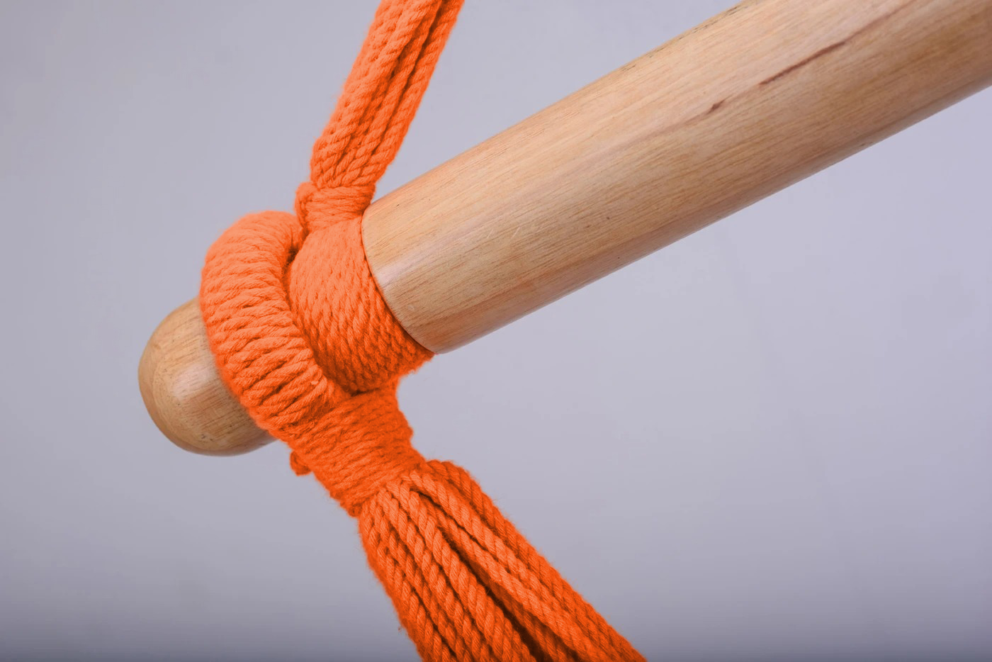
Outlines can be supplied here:
M196 299L152 333L138 364L138 383L159 430L186 451L232 456L272 441L220 379Z

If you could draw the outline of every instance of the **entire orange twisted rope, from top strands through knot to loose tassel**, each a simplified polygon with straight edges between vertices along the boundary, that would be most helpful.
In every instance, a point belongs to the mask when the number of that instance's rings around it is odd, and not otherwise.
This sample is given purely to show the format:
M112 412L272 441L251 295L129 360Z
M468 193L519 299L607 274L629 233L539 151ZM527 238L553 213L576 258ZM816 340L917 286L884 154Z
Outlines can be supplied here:
M400 378L431 358L386 307L361 216L461 0L385 0L313 147L296 214L248 215L210 248L200 307L221 376L358 519L425 660L643 660L463 469L410 444Z

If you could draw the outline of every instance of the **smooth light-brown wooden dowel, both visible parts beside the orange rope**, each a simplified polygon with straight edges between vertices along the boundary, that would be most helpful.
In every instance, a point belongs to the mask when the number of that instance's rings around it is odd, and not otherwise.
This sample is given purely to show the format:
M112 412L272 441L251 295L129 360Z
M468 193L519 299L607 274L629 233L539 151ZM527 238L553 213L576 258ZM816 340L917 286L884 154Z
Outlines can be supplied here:
M743 2L375 201L366 255L445 351L990 82L992 0ZM195 306L174 316L140 367L159 427L198 452L264 443Z

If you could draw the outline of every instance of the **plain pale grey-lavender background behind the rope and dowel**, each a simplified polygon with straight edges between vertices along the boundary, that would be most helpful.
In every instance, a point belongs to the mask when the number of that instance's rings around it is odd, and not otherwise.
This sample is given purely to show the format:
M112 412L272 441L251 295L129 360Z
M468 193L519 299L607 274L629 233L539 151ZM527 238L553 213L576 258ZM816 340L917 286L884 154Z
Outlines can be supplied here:
M468 2L386 193L727 7ZM289 208L371 2L0 11L0 658L413 660L272 445L173 448L136 364ZM992 93L409 378L652 659L992 656Z

